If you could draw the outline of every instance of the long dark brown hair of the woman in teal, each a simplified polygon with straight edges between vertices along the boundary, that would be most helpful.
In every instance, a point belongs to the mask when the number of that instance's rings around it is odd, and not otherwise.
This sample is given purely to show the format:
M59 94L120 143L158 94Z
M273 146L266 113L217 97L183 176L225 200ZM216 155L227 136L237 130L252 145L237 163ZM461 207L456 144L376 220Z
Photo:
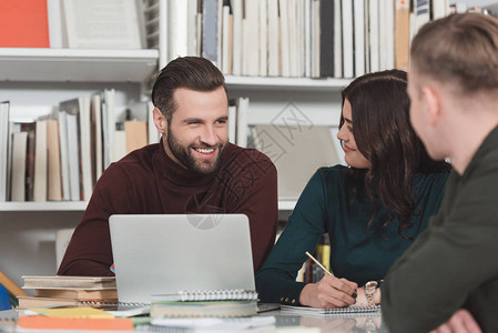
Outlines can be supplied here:
M416 208L411 194L411 182L416 173L449 170L444 161L429 158L421 141L409 123L409 98L406 93L407 75L400 70L369 73L354 80L343 90L343 107L347 99L352 105L353 135L359 152L372 163L372 168L349 168L347 180L356 196L364 192L375 202L382 201L390 218L398 215L398 233L411 226L410 218ZM344 124L341 115L339 128ZM354 199L355 200L355 199ZM368 221L372 226L378 212Z

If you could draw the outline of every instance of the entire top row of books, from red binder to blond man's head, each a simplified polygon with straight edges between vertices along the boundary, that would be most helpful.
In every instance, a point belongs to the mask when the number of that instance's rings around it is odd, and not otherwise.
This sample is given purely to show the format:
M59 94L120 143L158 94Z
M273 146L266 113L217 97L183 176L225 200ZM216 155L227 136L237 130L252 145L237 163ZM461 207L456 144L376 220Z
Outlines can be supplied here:
M169 60L202 56L225 74L354 78L406 69L423 24L467 10L481 11L449 0L4 0L0 47L157 48L165 34Z

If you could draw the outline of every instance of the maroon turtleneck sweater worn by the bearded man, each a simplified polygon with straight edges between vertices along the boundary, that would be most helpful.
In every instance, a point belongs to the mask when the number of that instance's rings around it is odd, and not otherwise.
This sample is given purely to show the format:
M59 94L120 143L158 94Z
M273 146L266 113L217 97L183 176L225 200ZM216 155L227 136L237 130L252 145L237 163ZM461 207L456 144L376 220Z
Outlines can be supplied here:
M111 214L214 212L248 216L256 272L273 248L278 219L272 161L254 149L228 144L217 172L200 175L172 161L162 143L146 145L112 163L99 179L58 274L113 275Z

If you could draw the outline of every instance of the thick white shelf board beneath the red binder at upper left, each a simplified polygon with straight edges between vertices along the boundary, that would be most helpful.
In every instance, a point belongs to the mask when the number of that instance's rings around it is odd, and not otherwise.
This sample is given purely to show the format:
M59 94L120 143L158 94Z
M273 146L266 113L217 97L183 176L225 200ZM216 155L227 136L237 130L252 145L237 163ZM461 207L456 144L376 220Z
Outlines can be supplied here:
M0 48L3 81L144 82L157 70L159 50Z

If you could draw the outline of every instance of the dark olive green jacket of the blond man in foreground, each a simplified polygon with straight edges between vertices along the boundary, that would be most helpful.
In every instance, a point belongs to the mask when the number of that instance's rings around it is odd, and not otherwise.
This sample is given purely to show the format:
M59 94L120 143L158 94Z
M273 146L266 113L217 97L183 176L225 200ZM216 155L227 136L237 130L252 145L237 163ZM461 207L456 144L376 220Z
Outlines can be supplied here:
M498 128L463 175L455 171L429 228L393 265L383 284L389 332L428 332L468 309L498 332Z

